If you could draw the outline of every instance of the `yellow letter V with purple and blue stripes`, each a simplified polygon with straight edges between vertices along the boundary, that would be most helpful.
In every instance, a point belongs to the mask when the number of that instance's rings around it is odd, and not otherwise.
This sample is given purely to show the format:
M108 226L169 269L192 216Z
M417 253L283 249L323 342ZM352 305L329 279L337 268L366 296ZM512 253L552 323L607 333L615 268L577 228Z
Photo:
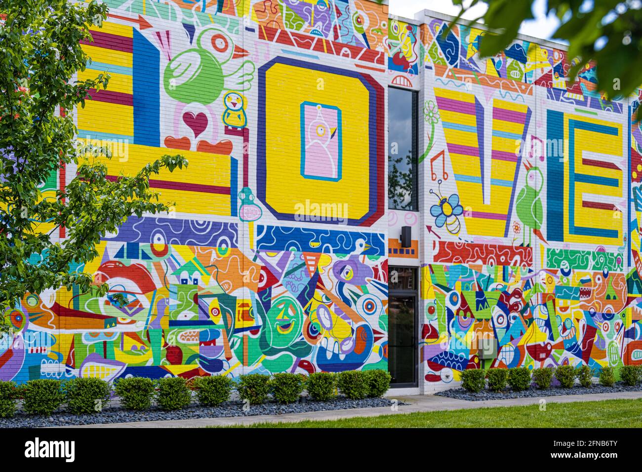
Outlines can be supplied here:
M532 112L528 105L435 87L468 234L505 238ZM517 152L516 152L517 148Z

